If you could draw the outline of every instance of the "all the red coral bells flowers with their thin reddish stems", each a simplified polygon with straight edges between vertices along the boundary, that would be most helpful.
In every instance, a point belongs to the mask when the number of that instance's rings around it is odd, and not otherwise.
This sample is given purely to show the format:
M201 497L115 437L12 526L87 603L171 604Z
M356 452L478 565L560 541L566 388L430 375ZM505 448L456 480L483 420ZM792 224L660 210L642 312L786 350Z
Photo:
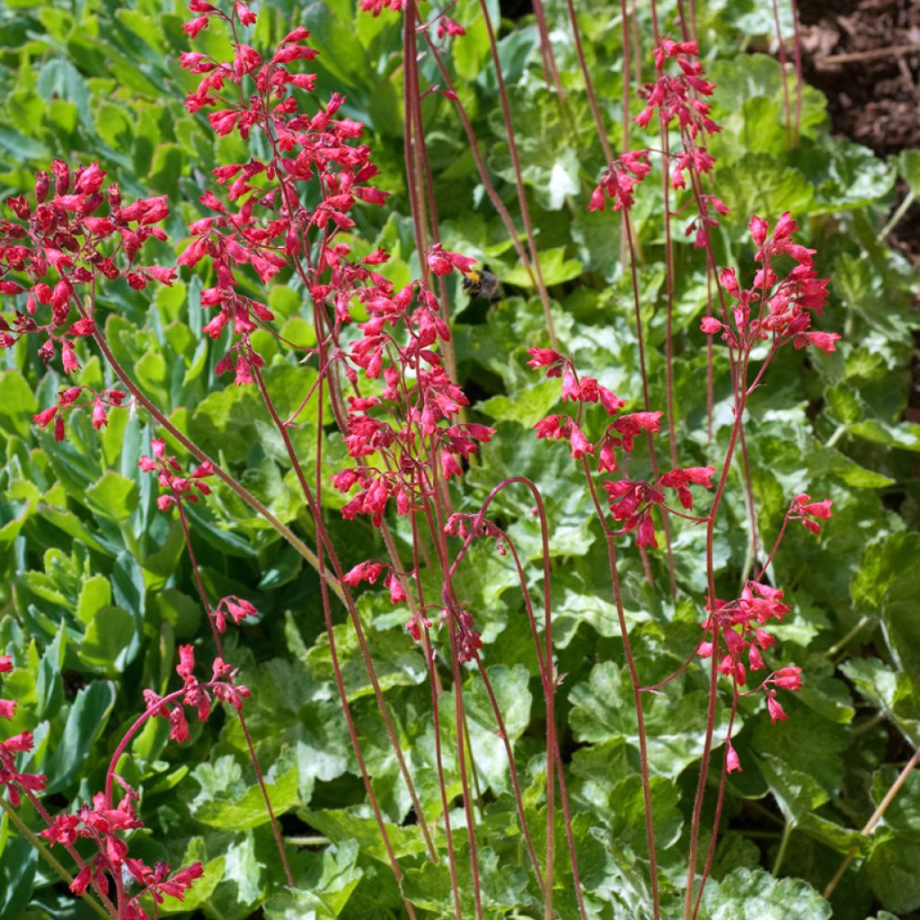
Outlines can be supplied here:
M377 15L384 6L396 9L400 5L362 0L362 6ZM464 735L463 675L466 665L475 669L489 698L495 728L508 761L523 842L543 894L544 913L547 918L555 915L558 798L566 829L569 867L575 880L579 910L585 917L556 724L555 698L561 675L554 662L552 638L548 550L551 522L546 518L538 489L525 477L510 477L497 484L475 513L455 511L450 489L451 483L463 478L466 466L480 445L489 443L496 434L493 429L467 419L469 400L445 361L451 330L443 288L435 290L444 277L471 270L474 260L449 251L434 238L420 254L420 277L397 287L379 268L388 259L384 250L377 249L362 259L353 259L349 245L339 239L343 232L355 229L351 212L363 204L385 205L386 194L372 184L377 169L370 149L360 143L362 125L340 114L344 98L334 94L318 107L306 106L305 100L309 97L305 94L311 93L316 85L315 75L298 69L301 63L308 63L316 55L307 44L308 32L300 27L293 29L275 48L263 53L242 39L247 34L245 30L256 21L246 4L237 2L224 10L205 0L192 0L189 8L194 17L183 30L190 39L195 39L203 29L224 26L233 41L234 52L232 59L226 61L201 52L181 55L182 66L201 78L187 99L188 109L206 112L213 131L219 136L236 133L246 141L250 135L259 134L267 155L252 156L245 163L226 164L213 170L213 188L201 195L203 215L189 224L190 240L175 267L148 264L144 258L144 244L150 237L167 239L161 226L168 216L165 197L125 203L117 184L107 183L98 164L71 169L55 161L50 174L42 172L36 177L31 200L19 197L7 201L12 216L0 224L0 293L15 298L16 305L10 319L0 318L0 347L10 348L20 339L31 337L38 342L40 357L45 362L54 362L60 357L63 373L75 374L89 342L97 345L108 364L113 385L98 391L87 385L63 386L55 402L35 415L34 422L40 429L53 424L57 441L67 436L67 420L80 409L90 411L96 429L107 424L110 411L129 406L132 410L145 411L159 428L161 436L154 438L151 453L141 456L138 466L157 477L161 489L157 500L159 510L178 516L192 576L208 617L217 654L210 664L210 678L202 680L195 676L194 647L183 645L178 649L176 671L181 687L166 696L159 696L151 689L144 691L144 711L117 745L106 773L105 788L92 798L91 804L56 816L45 809L40 799L44 778L17 767L17 758L32 748L28 731L0 742L0 785L8 790L14 808L23 798L28 799L46 822L41 836L54 845L63 846L74 859L75 876L67 876L72 891L92 898L91 903L103 915L120 920L145 918L150 915L148 912L155 916L157 905L163 903L165 897L183 898L201 877L201 863L173 871L166 864L157 863L151 867L132 856L132 832L142 826L137 815L141 797L117 774L117 765L132 738L149 719L167 719L169 738L182 744L190 739L187 709L193 710L203 721L212 714L215 701L228 703L247 740L287 882L295 887L297 880L288 863L259 759L247 730L245 710L250 694L244 684L237 683L237 669L227 661L222 638L228 621L239 624L255 615L256 610L253 604L236 595L216 602L209 596L195 557L193 532L186 512L188 502L206 499L213 485L220 482L259 512L316 567L342 716L348 725L367 799L396 880L401 880L402 869L365 765L339 666L332 628L333 598L344 605L355 630L362 662L428 856L436 862L442 858L441 848L446 850L456 916L461 916L462 894L466 892L462 891L452 828L455 819L445 780L439 708L444 687L443 678L436 669L436 656L449 662L453 681L457 759L465 811L463 831L468 844L477 917L483 916L477 855L477 825L482 815L474 809L471 765ZM413 11L414 5L410 4L405 15L410 17ZM408 29L414 29L412 19L409 19ZM439 39L445 36L460 38L463 34L463 27L452 20L445 19L439 24ZM702 99L711 94L713 85L705 78L697 55L694 41L661 40L654 52L657 79L647 87L646 108L635 121L640 127L646 127L658 118L665 140L669 126L676 121L680 147L671 152L666 144L663 145L662 176L666 184L670 182L672 190L689 192L696 214L687 233L694 237L696 247L706 251L710 269L715 272L709 235L717 225L716 215L724 215L727 209L718 198L703 191L704 180L714 164L705 139L717 132L719 126L709 119L708 104ZM678 68L675 75L666 73L670 63ZM417 72L415 77L418 78ZM779 691L795 691L801 686L798 667L774 667L768 663L776 642L768 627L789 613L782 590L772 583L771 563L790 521L819 533L819 522L831 516L830 501L811 500L806 494L791 499L776 545L763 564L753 577L745 580L737 597L717 596L714 532L729 471L743 439L745 407L754 389L764 385L765 373L781 348L791 344L795 349L816 347L834 351L839 337L811 328L813 316L822 314L828 282L817 275L813 250L794 241L795 222L789 214L784 214L771 227L760 217L753 217L750 230L757 268L746 287L742 287L735 270L721 270L718 273L719 307L702 321L702 332L718 337L728 352L733 394L729 441L719 466L682 466L678 462L674 437L670 364L669 406L665 413L649 404L641 352L640 292L632 252L630 209L641 183L652 172L652 156L652 150L642 148L612 158L588 202L591 210L599 211L610 201L612 209L622 214L626 227L643 405L636 411L621 413L627 406L626 400L597 379L580 374L574 358L552 342L549 344L553 347L532 348L529 364L547 377L559 379L561 402L572 404L573 414L547 415L537 422L535 432L538 438L568 444L572 460L579 464L584 474L585 488L590 493L597 522L604 534L611 588L638 721L651 912L656 920L661 916L661 903L643 700L650 693L661 692L679 674L695 666L697 660L703 660L708 669L707 729L690 829L684 903L684 916L689 920L696 915L711 869L726 776L742 769L741 760L731 745L739 702L745 696L763 694L769 718L776 722L786 719ZM791 268L789 263L792 263ZM203 272L206 267L214 281L202 292L201 305L211 311L204 332L213 339L214 347L223 350L217 362L217 373L232 374L236 385L253 386L258 391L303 491L315 526L315 549L306 546L236 478L206 456L194 442L193 435L180 431L144 393L133 379L131 369L123 367L109 347L102 308L97 302L98 292L106 284L123 279L133 290L140 291L150 285L171 285L178 277L178 270ZM247 293L279 276L296 278L303 283L309 292L316 331L316 346L301 350L305 361L316 363L316 384L305 394L301 407L288 418L283 417L272 398L262 370L265 361L254 344L253 333L266 330L282 344L290 343L281 339L272 325L274 316L269 307ZM222 344L218 346L219 342ZM711 388L711 374L709 386ZM326 424L324 413L328 409L330 423L341 432L350 457L350 466L340 469L332 480L333 488L348 496L341 515L346 520L368 518L382 535L387 558L365 559L346 568L339 550L333 545L324 523L322 495L328 483L323 481L321 473L322 438L317 439L311 469L306 458L298 454L291 435L301 408L311 400L317 406L319 428ZM661 431L662 418L672 423L672 462L666 466L659 465L654 443L654 436ZM629 470L634 454L637 450L641 452L643 443L650 452L652 475L648 479L631 475ZM175 445L193 458L190 472L184 472L185 465L169 453L178 449ZM542 621L535 612L525 564L517 547L499 523L486 516L489 505L503 490L517 487L530 493L541 526ZM707 512L702 514L695 513L701 489L711 490ZM399 558L397 543L387 523L393 511L397 521L401 521L411 535L411 558L406 561ZM668 529L671 517L706 529L705 558L700 564L706 569L707 592L697 598L699 639L693 655L672 675L654 684L644 684L632 650L621 596L618 553L630 534L635 534L636 544L643 554L657 548L661 537L669 550L673 581ZM529 826L509 733L483 665L477 612L469 609L454 583L458 566L469 547L481 537L494 541L496 550L502 555L512 557L523 592L546 703L546 792L542 803L546 828L542 835L542 854L538 852L537 834ZM647 559L645 555L643 558ZM421 577L423 570L429 575L426 579ZM441 586L436 594L425 587L431 584L431 573ZM426 819L420 804L403 742L397 736L374 671L372 639L365 635L357 614L354 589L364 582L373 585L378 581L394 604L406 606L407 641L418 644L428 670L442 806L439 820L443 822L443 834L438 834L437 828ZM436 651L438 641L442 648ZM0 658L0 672L8 672L11 667L9 656ZM756 680L752 680L753 673L758 674ZM721 692L720 681L727 694ZM720 705L729 708L729 719L724 738L717 739ZM0 717L11 719L15 707L15 700L0 700ZM712 750L720 741L724 743L715 818L700 872L698 849L708 766ZM78 840L95 845L97 853L91 858L81 857L75 848ZM129 877L135 883L133 892L126 883ZM408 916L414 917L412 903L408 899L404 903Z

